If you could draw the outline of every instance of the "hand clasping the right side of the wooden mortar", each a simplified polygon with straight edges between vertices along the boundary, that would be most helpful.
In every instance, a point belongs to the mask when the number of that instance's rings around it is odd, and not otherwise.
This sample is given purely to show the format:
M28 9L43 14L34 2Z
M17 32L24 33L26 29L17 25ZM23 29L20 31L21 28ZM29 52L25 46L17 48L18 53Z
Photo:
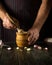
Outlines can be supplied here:
M37 28L31 28L28 31L28 44L33 44L37 41L37 39L39 38L39 30Z

